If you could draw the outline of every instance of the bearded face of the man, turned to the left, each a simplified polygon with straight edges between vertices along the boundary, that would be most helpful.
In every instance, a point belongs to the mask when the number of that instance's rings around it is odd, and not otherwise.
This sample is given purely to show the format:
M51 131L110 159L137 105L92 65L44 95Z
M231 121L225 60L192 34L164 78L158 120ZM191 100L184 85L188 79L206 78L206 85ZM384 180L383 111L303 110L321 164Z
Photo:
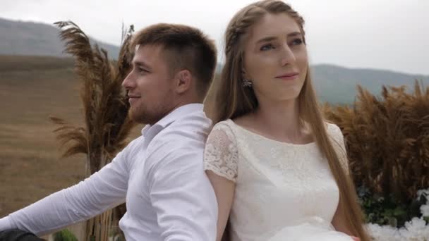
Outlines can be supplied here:
M138 46L123 80L133 121L153 125L174 109L174 75L159 45Z

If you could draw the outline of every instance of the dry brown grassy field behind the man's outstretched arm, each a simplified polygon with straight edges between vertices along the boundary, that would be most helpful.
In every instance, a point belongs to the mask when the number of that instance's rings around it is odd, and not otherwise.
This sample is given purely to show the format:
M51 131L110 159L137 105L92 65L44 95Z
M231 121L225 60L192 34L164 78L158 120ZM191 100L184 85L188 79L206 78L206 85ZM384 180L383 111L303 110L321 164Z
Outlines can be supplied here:
M49 121L83 123L79 88L71 58L0 56L0 217L83 180L85 156L61 158Z

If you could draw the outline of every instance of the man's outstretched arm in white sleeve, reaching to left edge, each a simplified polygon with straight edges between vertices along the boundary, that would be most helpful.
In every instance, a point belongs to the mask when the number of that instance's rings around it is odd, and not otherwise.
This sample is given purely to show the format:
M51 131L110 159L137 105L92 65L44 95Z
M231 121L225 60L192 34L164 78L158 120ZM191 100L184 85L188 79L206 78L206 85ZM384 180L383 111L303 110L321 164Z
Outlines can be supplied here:
M0 231L18 228L37 235L101 214L125 200L128 187L126 154L84 181L0 219Z

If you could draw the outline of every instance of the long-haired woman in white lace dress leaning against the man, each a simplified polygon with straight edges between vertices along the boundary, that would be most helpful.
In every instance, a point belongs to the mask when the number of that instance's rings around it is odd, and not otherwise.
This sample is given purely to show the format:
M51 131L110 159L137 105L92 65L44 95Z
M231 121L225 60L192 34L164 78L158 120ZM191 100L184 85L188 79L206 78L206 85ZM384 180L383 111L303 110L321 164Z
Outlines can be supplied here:
M303 22L291 6L266 0L226 29L205 149L217 240L369 240L342 132L318 109Z

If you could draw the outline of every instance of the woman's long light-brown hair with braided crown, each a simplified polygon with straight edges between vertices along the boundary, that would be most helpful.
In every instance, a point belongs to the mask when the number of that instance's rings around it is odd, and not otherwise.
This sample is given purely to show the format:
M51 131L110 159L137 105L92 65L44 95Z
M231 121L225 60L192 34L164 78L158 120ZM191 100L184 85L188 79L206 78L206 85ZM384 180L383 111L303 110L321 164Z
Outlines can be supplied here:
M238 11L226 28L226 63L215 94L214 123L243 116L258 108L258 99L255 97L253 89L242 85L243 43L250 27L267 13L286 13L291 16L298 23L303 36L305 36L303 18L291 6L282 1L258 1ZM303 40L306 43L305 37ZM351 230L353 235L360 237L363 241L369 241L369 237L363 228L363 214L358 205L354 183L340 164L339 155L335 152L327 135L309 70L298 95L298 109L300 119L309 124L315 137L315 142L327 157L330 169L339 187L339 212L344 214L344 224Z

